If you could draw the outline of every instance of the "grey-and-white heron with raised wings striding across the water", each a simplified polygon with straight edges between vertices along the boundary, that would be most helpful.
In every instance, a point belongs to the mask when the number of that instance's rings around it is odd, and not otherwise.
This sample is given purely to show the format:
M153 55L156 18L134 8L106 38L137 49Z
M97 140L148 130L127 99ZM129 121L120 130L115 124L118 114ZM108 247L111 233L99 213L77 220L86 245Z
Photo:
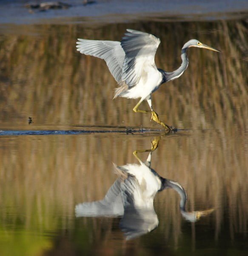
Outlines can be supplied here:
M186 51L189 47L200 47L219 52L219 50L202 44L196 39L191 39L182 47L181 66L173 71L166 72L157 68L154 57L160 39L154 35L127 29L125 36L118 41L99 41L78 39L77 50L86 55L92 55L106 61L108 69L119 84L115 90L114 98L117 96L138 99L140 101L133 108L134 112L151 113L151 120L162 125L166 130L176 131L172 126L161 122L157 113L153 111L151 94L161 84L172 81L182 75L188 67ZM140 103L148 102L150 111L140 110Z

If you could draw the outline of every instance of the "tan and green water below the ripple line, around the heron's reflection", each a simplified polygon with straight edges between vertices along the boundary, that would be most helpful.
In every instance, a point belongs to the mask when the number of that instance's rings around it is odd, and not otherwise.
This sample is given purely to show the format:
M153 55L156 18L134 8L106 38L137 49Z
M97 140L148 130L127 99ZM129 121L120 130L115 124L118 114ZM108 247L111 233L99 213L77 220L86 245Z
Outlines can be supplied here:
M157 134L154 134L154 136ZM125 240L120 218L75 218L76 204L100 200L116 180L113 163L138 163L132 152L150 148L153 136L50 135L1 137L1 254L211 252L247 250L247 148L239 132L163 136L151 167L179 182L188 210L214 208L196 223L185 221L179 196L157 194L157 229ZM247 145L246 145L247 146ZM145 160L148 153L140 153ZM228 244L227 244L227 241ZM222 245L225 244L225 248ZM156 248L156 249L154 249Z

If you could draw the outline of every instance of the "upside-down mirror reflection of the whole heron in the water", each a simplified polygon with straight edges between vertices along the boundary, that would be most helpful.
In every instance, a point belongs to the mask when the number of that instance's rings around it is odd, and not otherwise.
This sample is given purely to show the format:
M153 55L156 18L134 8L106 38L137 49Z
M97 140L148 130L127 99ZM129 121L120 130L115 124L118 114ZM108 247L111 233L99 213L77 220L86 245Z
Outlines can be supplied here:
M122 216L120 228L125 233L126 239L133 239L157 227L159 221L153 201L157 192L166 188L174 189L180 195L180 212L187 221L195 222L201 216L213 212L213 209L187 212L185 209L187 194L183 187L173 180L161 177L151 169L151 154L157 148L158 141L159 138L154 139L149 150L134 151L133 154L140 165L114 165L118 178L108 189L103 200L77 204L76 216ZM148 158L143 163L137 153L148 151L150 152Z

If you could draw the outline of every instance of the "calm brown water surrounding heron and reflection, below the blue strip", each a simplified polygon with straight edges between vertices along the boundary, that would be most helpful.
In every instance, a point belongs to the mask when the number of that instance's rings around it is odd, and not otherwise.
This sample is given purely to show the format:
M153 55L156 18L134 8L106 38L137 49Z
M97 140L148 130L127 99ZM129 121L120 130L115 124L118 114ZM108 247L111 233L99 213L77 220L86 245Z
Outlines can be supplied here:
M242 17L0 25L0 255L247 255ZM161 39L156 63L168 71L180 65L190 38L222 51L190 49L185 74L153 94L161 120L185 130L165 134L149 115L132 111L136 100L112 100L116 83L104 61L75 50L76 38L117 41L126 28ZM154 138L151 168L182 185L187 211L214 212L189 222L177 192L165 189L154 201L157 227L129 240L122 216L76 217L77 204L103 199L115 182L113 163L139 164L133 152L151 148ZM148 154L138 156L145 162Z

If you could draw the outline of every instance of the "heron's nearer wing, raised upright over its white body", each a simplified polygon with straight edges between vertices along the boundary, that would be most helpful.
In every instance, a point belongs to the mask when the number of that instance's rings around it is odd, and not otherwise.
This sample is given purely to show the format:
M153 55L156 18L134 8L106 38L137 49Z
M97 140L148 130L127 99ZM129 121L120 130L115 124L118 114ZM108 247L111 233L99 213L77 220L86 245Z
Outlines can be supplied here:
M125 52L121 80L131 87L136 85L146 65L155 66L154 57L160 39L154 35L127 29L121 46Z

